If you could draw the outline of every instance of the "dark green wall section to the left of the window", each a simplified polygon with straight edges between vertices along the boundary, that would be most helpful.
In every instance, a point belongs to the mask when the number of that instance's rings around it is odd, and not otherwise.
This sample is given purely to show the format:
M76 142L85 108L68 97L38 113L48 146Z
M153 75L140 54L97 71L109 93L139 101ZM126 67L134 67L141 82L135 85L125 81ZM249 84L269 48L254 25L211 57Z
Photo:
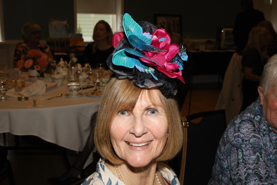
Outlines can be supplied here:
M67 20L69 33L74 33L73 0L2 0L5 40L22 40L21 28L35 22L42 29L42 40L49 37L48 22L51 18Z

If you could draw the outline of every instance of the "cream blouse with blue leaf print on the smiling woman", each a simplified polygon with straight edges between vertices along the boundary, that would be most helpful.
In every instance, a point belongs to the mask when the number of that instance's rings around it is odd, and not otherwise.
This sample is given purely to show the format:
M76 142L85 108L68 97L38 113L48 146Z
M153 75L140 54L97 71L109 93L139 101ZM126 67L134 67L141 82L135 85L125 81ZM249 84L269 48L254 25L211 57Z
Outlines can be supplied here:
M105 159L98 161L96 165L96 172L87 177L82 185L124 185L117 176L115 176L105 165ZM158 164L158 171L171 185L179 185L179 180L175 172L166 164Z

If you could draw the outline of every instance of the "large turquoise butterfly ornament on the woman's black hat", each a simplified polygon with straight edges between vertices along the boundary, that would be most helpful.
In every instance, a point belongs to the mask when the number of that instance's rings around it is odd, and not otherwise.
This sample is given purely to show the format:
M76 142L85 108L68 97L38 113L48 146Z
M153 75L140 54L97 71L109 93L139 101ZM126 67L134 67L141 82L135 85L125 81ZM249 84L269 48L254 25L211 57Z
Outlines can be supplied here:
M151 74L156 80L158 80L158 78L153 74L155 70L143 65L139 58L143 57L153 63L158 64L153 59L147 57L143 51L159 52L166 50L160 50L150 45L152 41L152 35L147 32L143 33L142 28L132 19L129 14L124 14L123 16L123 29L128 38L128 41L133 47L124 48L117 51L113 55L113 64L129 68L133 68L135 66L137 69L139 69L139 71ZM159 39L160 42L164 40L164 38ZM130 53L131 55L128 55L125 52Z

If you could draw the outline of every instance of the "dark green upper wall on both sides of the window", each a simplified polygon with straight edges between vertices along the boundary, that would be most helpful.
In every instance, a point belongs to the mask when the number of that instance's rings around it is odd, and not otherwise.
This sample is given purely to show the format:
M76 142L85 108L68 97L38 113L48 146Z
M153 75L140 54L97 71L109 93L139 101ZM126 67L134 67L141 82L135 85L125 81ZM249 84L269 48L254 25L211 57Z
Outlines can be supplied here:
M73 0L2 0L2 5L5 40L21 40L20 30L30 21L40 25L45 40L51 18L67 20L74 33ZM193 39L216 38L217 28L233 26L240 11L240 0L124 1L124 13L135 21L154 24L154 14L180 14L183 35L189 33Z

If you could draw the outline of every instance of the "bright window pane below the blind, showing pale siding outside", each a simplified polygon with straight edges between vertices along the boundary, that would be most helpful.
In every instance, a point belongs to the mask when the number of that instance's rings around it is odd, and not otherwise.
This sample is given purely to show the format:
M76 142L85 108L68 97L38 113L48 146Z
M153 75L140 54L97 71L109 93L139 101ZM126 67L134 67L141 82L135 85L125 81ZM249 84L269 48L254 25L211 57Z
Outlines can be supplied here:
M113 32L116 30L116 15L115 14L86 14L77 13L77 31L83 34L85 42L93 41L93 29L95 24L100 21L106 21L112 28Z

